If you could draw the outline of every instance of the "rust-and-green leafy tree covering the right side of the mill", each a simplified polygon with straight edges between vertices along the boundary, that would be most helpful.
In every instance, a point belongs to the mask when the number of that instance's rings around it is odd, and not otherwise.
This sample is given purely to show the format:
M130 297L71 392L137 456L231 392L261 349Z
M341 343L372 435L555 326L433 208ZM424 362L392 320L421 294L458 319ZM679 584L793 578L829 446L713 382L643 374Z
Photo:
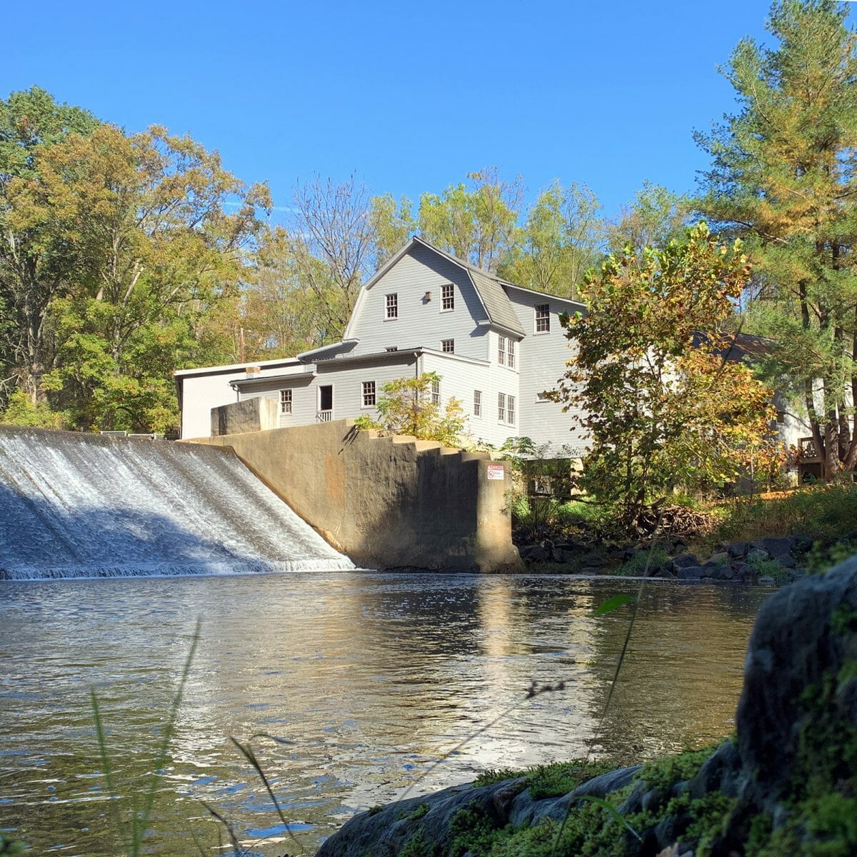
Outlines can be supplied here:
M584 288L588 314L562 319L576 351L556 395L590 434L582 484L629 528L676 483L734 479L769 440L772 392L722 357L749 276L740 243L719 246L702 223L684 243L608 257Z

